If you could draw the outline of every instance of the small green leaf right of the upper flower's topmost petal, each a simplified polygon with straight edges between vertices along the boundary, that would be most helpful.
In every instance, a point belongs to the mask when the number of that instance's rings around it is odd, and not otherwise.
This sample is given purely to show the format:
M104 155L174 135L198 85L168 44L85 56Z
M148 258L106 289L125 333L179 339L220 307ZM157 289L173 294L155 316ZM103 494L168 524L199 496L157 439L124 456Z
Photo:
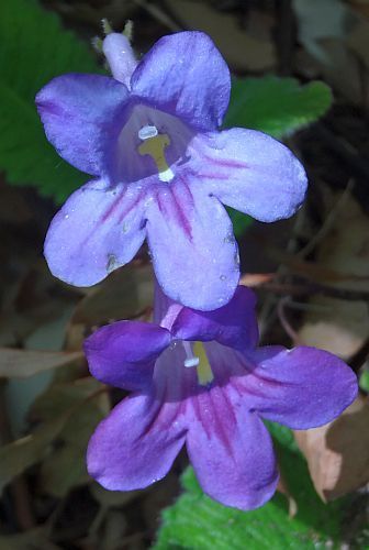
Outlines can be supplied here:
M328 86L301 86L294 78L234 78L225 128L245 127L275 138L289 135L322 117L332 103Z

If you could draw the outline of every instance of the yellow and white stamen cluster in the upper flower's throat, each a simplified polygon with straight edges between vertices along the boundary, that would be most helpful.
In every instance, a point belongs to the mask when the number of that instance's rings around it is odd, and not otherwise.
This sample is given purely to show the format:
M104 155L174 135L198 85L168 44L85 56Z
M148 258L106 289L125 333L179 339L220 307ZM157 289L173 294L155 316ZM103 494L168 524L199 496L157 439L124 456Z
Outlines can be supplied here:
M138 146L138 153L144 156L148 155L156 164L160 182L169 183L175 177L175 174L168 166L165 157L165 150L170 145L168 134L159 134L154 125L146 125L138 130L138 138L142 144Z

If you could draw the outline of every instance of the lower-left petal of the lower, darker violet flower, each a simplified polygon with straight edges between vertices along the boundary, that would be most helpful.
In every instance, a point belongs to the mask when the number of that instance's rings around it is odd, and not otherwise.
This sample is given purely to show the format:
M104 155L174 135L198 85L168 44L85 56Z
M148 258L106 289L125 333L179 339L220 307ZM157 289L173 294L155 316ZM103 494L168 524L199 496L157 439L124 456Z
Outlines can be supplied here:
M175 425L176 404L144 395L124 399L90 439L90 475L111 491L144 488L161 480L185 442L185 429Z

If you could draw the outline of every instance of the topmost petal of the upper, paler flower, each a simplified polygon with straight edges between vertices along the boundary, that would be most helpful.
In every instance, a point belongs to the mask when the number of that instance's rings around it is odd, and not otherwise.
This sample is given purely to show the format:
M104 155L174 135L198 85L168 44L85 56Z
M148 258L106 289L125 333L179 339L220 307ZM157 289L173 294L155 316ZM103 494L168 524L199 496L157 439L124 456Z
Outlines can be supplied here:
M199 130L215 130L228 106L231 78L206 34L180 32L154 45L134 72L131 87L157 109Z

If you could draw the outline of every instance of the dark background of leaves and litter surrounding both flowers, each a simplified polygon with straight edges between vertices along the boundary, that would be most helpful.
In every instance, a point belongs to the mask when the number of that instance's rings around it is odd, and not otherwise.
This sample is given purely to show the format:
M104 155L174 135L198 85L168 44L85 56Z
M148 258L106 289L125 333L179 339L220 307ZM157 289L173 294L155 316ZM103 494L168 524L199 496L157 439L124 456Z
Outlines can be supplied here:
M134 22L138 57L164 34L208 32L233 73L224 127L286 141L310 176L292 220L231 211L242 282L258 294L264 343L338 354L361 395L323 428L269 425L281 483L253 513L205 497L186 454L142 492L107 492L86 472L88 439L123 393L89 376L82 341L112 320L148 320L152 272L143 249L90 289L51 276L45 232L88 176L47 143L34 96L63 73L107 73L91 45L102 18ZM0 549L369 548L368 18L367 0L1 4Z

